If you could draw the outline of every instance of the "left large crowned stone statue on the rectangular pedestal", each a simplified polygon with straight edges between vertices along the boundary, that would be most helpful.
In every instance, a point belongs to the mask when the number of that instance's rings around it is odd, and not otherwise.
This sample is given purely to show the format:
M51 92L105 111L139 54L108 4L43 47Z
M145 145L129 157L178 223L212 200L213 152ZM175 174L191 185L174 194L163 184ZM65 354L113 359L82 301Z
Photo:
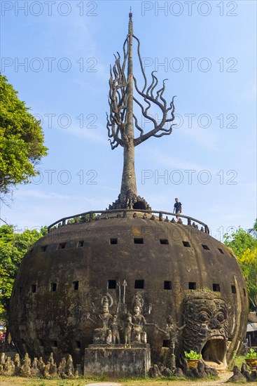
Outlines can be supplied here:
M112 342L112 331L111 331L111 322L113 316L109 313L109 299L105 295L102 299L102 313L97 315L97 321L90 318L88 314L88 319L92 321L93 324L98 324L101 321L101 327L95 328L93 335L94 343L108 343Z

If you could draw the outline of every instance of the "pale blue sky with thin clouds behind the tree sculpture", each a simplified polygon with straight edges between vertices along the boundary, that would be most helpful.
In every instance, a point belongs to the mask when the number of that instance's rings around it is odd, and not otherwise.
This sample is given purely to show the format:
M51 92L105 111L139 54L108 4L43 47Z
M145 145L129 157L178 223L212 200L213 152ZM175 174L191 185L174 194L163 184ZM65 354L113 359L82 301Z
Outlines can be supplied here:
M109 66L132 7L146 76L175 98L171 135L135 149L153 210L209 225L222 240L256 219L256 1L1 1L1 73L41 125L48 156L0 217L20 231L104 210L118 198L123 148L106 131ZM142 75L134 44L134 75ZM144 131L152 126L142 119ZM160 112L151 114L159 119ZM135 130L138 136L139 131ZM3 225L4 222L0 222Z

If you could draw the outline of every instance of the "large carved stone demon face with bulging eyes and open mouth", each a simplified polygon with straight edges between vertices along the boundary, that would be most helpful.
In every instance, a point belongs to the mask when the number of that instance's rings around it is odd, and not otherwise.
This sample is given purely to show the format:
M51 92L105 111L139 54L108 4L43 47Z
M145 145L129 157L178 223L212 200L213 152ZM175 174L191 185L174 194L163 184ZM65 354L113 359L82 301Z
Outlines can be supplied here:
M193 291L183 302L183 351L202 354L204 363L217 370L227 366L227 306L216 293Z

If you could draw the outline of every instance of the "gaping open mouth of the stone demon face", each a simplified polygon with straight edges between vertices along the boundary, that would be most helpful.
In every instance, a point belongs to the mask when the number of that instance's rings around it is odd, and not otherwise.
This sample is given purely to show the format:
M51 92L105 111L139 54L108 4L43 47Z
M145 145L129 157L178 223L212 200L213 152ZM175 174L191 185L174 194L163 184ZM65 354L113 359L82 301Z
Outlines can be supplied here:
M204 363L217 370L225 370L227 347L223 336L212 336L202 347L202 359Z

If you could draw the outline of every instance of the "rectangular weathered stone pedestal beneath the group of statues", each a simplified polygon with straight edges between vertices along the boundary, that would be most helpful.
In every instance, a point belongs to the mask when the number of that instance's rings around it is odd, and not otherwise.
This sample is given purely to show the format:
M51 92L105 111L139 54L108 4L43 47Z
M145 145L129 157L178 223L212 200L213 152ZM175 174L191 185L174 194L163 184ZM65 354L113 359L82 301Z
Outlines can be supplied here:
M89 345L85 349L84 376L144 377L151 366L148 344Z

